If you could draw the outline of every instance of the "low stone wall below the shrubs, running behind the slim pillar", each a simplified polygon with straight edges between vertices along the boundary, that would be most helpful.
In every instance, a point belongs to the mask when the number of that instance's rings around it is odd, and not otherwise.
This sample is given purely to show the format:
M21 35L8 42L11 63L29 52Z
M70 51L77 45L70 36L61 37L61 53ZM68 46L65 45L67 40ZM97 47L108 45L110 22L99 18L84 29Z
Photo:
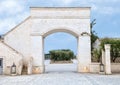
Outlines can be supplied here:
M100 63L91 63L90 72L98 73L100 71L99 65ZM111 63L111 71L112 73L120 73L120 63Z

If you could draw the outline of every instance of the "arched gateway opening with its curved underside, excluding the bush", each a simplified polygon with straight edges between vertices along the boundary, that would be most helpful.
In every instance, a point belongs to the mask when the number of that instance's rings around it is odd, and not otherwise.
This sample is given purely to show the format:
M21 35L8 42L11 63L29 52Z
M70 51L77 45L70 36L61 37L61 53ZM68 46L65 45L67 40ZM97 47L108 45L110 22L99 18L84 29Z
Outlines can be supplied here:
M52 30L44 35L44 65L45 72L77 72L77 34L68 30ZM74 58L70 63L52 63L51 50L69 49L73 51Z

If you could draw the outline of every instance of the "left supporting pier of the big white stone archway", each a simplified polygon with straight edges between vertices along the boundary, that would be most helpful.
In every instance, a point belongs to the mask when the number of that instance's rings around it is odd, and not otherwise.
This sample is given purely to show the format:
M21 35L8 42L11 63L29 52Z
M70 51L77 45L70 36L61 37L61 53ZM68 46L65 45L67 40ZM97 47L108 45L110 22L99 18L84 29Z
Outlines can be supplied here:
M44 72L44 51L43 51L43 37L40 35L31 36L31 50L33 57L33 73Z

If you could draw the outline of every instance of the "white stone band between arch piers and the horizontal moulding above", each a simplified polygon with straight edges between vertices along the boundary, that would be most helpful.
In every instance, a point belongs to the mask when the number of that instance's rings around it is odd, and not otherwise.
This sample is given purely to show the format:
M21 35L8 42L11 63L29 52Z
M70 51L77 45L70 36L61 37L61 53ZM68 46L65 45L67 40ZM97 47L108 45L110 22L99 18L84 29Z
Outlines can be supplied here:
M36 19L32 18L31 34L47 35L54 32L67 32L75 37L82 32L90 33L90 19Z

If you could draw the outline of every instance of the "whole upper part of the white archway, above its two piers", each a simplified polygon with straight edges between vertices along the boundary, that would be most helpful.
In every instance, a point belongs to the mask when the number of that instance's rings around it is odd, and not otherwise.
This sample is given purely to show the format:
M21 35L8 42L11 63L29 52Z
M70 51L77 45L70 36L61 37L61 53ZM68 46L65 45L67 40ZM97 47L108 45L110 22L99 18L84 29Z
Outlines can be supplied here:
M46 37L61 31L77 37L90 33L90 8L31 8L31 19L33 35Z

